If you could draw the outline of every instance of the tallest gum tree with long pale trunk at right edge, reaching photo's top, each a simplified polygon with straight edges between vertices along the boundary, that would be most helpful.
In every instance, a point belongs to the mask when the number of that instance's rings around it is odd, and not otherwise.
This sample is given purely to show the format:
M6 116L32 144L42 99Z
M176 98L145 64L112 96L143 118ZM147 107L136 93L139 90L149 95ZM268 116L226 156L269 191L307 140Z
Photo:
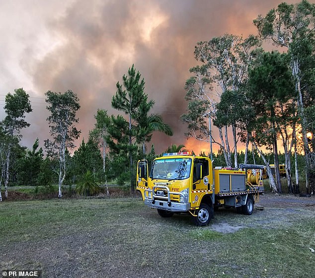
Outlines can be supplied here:
M305 108L314 103L314 53L315 53L315 4L302 0L296 4L281 3L265 17L259 15L254 24L263 39L287 49L291 73L296 90L297 114L299 116L303 151L306 160L307 185L315 190L315 178L309 171L315 167L314 153L310 150L307 129L310 122ZM313 175L312 175L313 176Z

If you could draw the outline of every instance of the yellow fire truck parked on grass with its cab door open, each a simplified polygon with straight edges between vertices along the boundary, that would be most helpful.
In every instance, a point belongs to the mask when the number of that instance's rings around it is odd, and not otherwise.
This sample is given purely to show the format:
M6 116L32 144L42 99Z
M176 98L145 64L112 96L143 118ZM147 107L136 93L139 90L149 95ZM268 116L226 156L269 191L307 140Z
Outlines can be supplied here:
M219 207L252 214L259 193L264 192L261 169L259 165L213 169L208 157L163 154L153 161L150 173L148 162L138 161L137 190L161 217L189 213L197 226L206 226Z

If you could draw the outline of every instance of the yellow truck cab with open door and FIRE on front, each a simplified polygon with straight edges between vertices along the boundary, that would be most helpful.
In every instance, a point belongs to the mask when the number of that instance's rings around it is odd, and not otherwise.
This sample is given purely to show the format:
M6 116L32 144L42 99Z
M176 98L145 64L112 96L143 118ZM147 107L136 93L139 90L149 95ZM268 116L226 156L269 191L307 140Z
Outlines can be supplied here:
M196 157L190 152L163 154L153 161L150 173L147 161L140 160L137 190L145 204L158 209L162 217L174 213L194 215L207 195L207 208L201 210L197 218L202 222L197 224L208 224L213 217L213 173L211 160L207 157Z

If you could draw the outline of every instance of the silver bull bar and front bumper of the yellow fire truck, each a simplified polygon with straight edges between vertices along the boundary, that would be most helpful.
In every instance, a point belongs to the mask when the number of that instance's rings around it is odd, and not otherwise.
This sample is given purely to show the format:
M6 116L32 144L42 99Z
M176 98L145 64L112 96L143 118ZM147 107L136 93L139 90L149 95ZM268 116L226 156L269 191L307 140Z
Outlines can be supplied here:
M179 195L179 199L183 202L172 201L170 195ZM184 212L190 209L188 196L182 192L172 192L167 186L157 185L152 189L145 190L145 204L162 210L173 212Z

